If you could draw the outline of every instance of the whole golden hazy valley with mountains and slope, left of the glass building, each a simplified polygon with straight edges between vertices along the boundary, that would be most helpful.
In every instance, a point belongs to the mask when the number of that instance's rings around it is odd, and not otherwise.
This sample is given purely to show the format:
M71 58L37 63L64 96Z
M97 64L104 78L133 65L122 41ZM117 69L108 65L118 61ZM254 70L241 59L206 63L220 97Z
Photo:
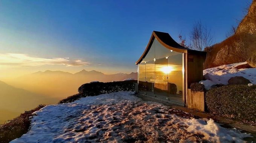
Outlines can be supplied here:
M104 74L82 70L72 74L62 71L36 72L15 79L0 81L0 124L38 104L56 104L76 94L79 86L91 81L112 82L127 78L137 80L137 73Z

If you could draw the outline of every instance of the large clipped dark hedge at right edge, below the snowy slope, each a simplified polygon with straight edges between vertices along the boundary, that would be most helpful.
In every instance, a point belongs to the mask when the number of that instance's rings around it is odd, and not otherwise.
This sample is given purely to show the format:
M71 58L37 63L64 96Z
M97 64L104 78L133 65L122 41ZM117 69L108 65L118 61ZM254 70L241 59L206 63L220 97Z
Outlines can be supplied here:
M226 85L206 93L209 112L256 125L256 85Z

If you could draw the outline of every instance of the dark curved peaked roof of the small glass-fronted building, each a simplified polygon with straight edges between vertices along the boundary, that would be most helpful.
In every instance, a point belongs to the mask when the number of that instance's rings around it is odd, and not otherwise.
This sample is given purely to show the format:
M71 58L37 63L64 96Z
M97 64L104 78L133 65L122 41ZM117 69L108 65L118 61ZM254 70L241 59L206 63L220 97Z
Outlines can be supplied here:
M176 51L176 52L187 53L189 51L189 52L196 53L196 54L206 55L206 52L196 51L196 50L188 49L188 48L181 46L175 40L172 39L172 37L169 35L169 33L153 31L151 38L149 39L148 45L146 46L145 51L143 52L143 54L141 55L139 60L136 62L136 64L139 64L146 57L154 39L157 39L157 41L160 42L163 46L165 46L165 48L168 48L168 49Z

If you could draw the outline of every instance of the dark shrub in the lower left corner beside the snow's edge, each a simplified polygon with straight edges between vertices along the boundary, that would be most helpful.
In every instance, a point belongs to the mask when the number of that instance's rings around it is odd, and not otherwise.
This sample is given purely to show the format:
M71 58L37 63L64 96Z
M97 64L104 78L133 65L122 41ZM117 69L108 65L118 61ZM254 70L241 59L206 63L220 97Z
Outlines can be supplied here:
M38 105L35 109L25 111L20 116L9 120L6 124L0 125L0 143L9 143L29 130L30 121L29 117L32 113L40 110L45 105Z

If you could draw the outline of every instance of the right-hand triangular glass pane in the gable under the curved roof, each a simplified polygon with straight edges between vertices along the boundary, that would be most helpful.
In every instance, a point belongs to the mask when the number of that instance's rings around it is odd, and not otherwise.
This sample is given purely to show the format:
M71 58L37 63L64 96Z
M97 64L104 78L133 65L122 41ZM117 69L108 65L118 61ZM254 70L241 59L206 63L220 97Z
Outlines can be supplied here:
M155 40L155 58L164 58L172 55L180 54L179 52L172 51L168 48L165 48L160 42Z

